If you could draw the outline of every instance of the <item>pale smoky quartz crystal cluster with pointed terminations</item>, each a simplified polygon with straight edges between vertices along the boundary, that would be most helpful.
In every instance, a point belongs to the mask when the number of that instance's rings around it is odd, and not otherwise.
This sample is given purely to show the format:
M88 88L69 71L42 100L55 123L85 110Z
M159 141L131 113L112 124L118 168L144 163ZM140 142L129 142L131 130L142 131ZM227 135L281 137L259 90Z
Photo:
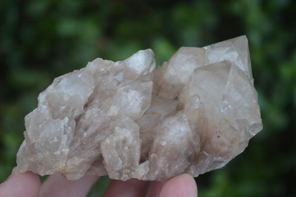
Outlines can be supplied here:
M221 168L262 129L245 36L95 59L54 79L25 117L17 170L163 181Z

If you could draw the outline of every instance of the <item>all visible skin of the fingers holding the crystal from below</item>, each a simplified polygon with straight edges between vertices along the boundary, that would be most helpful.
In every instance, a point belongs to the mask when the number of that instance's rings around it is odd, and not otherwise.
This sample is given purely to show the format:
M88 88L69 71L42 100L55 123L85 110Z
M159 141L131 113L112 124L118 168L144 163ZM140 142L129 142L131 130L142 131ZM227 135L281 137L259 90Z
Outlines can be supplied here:
M86 197L98 178L86 176L69 181L60 174L54 174L40 185L38 175L33 172L14 173L0 184L0 197ZM104 197L197 197L197 187L188 174L167 182L112 180Z

